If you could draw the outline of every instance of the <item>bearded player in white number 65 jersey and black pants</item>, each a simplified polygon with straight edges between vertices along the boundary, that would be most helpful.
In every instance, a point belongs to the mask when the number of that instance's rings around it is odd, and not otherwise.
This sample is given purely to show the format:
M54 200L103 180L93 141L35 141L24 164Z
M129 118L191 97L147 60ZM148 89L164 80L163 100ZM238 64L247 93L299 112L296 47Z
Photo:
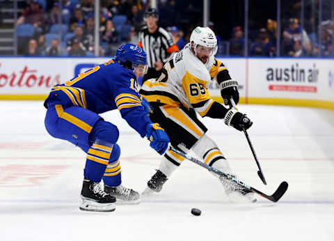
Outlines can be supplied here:
M145 81L140 93L153 107L151 120L164 128L174 148L184 152L191 149L205 164L233 175L223 153L205 134L207 128L196 117L197 112L202 117L221 118L226 125L239 131L253 124L245 114L227 109L210 98L207 86L215 79L226 105L231 106L231 98L236 104L239 102L237 81L231 79L223 63L214 58L216 51L214 32L207 27L196 27L186 47L170 57L158 79ZM160 192L183 161L183 157L168 150L145 192ZM229 197L246 196L246 200L255 201L253 194L246 194L237 185L225 179L221 182Z

